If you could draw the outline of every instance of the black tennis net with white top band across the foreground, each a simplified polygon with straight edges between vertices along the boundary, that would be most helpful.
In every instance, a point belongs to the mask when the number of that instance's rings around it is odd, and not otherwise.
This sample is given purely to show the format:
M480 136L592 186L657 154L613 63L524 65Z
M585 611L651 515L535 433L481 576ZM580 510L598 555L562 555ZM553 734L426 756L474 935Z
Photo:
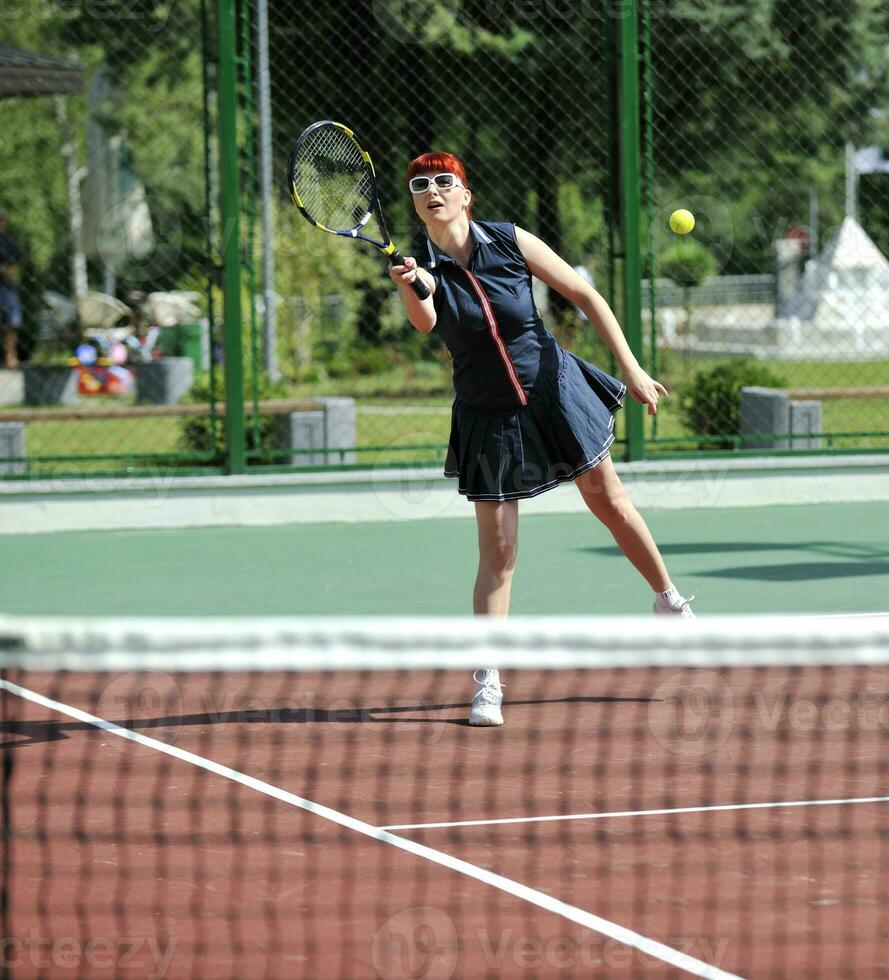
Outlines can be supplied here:
M0 617L3 973L886 976L887 667L880 617Z

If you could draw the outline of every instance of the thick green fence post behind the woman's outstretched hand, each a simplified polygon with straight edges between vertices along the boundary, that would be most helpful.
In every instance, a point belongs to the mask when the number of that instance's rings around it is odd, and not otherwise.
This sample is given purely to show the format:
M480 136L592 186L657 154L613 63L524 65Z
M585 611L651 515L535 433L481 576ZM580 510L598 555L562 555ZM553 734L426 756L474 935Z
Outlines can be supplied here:
M620 234L624 253L624 330L627 343L640 364L642 350L642 207L639 116L639 28L637 0L624 0L619 8L618 112L620 132ZM643 406L626 401L627 459L645 455Z

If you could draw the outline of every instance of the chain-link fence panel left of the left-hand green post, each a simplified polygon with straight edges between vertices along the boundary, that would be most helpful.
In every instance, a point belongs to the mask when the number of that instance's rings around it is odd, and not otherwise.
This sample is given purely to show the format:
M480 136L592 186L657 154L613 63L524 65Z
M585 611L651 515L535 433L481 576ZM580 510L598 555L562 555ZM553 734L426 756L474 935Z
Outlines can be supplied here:
M7 0L3 22L4 285L23 315L2 328L0 471L211 465L204 11Z

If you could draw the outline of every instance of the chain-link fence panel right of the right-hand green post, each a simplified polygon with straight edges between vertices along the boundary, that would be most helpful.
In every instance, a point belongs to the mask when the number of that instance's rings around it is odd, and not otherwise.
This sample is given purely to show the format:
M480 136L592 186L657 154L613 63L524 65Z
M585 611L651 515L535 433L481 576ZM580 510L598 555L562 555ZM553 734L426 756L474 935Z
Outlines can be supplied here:
M646 325L678 395L649 449L885 447L889 9L650 0L641 15ZM676 208L697 217L687 239Z

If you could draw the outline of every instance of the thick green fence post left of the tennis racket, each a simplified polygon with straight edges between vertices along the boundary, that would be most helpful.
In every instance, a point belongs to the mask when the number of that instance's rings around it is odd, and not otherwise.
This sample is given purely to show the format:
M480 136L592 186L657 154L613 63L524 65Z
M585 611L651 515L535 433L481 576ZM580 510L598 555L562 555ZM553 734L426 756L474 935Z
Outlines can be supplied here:
M238 91L235 69L235 0L217 0L219 36L219 161L222 198L222 297L226 471L246 471L244 352L241 338L241 219L238 178Z

